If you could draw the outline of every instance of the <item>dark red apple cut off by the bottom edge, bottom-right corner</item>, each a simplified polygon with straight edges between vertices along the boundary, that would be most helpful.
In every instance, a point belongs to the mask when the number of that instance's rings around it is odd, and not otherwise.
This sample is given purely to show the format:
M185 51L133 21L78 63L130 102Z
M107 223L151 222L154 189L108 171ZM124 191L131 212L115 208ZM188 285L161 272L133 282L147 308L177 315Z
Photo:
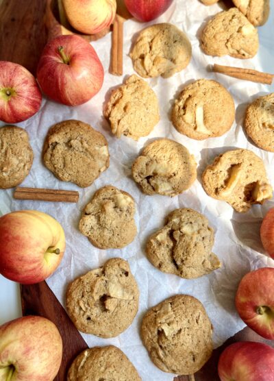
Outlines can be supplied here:
M274 381L274 349L263 343L240 341L219 358L221 381Z

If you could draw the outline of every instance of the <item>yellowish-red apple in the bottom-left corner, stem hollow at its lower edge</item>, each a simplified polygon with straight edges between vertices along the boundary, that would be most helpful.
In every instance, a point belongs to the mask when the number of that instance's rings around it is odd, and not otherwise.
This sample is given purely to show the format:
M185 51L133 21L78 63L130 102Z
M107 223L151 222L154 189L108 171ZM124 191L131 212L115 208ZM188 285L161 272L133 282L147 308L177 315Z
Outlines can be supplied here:
M0 380L52 381L61 360L62 338L48 319L20 317L0 326Z

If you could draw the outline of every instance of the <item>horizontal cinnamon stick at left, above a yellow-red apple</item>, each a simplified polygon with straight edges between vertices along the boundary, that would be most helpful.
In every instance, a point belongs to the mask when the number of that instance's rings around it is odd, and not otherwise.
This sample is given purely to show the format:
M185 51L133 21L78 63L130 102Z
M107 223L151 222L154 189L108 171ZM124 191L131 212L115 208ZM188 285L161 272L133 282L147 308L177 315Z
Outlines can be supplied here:
M79 199L79 193L75 190L23 188L17 186L14 192L14 199L77 202Z

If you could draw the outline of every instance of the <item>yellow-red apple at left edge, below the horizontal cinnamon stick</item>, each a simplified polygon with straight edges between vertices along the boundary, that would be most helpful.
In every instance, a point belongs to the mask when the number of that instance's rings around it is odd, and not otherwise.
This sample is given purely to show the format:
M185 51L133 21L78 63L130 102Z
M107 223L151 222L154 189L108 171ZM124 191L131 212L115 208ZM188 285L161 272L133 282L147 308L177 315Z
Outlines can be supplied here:
M0 273L5 278L23 284L45 280L60 264L65 246L64 230L49 214L20 210L0 217ZM60 254L49 252L55 249Z

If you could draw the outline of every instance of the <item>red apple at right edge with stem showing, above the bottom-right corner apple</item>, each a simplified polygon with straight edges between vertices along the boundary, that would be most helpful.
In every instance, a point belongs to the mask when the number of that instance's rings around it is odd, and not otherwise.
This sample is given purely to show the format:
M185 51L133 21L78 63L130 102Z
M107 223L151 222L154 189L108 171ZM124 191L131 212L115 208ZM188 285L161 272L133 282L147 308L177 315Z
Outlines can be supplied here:
M241 319L265 339L274 339L274 269L263 267L242 278L235 304Z

